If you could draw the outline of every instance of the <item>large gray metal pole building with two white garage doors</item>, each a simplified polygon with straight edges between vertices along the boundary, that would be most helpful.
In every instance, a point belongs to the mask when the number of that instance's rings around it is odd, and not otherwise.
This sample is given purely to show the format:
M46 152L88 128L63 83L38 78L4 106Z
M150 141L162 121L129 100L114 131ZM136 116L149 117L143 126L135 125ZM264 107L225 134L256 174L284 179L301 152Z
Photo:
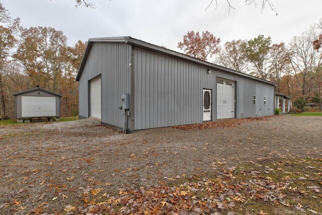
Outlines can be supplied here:
M274 114L274 83L131 37L89 39L76 81L79 117L125 131Z

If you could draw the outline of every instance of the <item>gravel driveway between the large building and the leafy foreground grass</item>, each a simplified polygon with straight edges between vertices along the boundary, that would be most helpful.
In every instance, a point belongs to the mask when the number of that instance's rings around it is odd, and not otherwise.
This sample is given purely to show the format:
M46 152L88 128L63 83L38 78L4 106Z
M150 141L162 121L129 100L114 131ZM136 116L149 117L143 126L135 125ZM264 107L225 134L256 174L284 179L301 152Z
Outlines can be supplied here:
M0 211L82 204L84 193L153 186L258 159L322 157L322 117L280 116L232 128L122 134L95 119L0 128ZM15 200L19 203L15 203Z

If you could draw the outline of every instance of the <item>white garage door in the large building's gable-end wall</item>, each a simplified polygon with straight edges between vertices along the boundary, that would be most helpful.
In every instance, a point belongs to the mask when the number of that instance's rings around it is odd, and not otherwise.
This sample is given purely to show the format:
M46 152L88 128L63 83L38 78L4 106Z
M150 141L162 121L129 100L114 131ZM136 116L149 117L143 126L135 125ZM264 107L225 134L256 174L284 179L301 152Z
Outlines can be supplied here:
M102 117L101 77L90 82L91 116Z

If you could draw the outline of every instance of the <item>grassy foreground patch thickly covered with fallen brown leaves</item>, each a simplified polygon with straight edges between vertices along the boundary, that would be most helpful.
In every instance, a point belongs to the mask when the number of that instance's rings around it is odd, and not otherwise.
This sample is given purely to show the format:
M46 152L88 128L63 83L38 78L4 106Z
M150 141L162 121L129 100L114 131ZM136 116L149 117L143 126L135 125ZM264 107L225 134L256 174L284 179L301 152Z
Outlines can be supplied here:
M221 166L217 162L217 166ZM84 192L84 205L66 206L77 213L140 214L320 214L322 159L264 161L176 177L173 186L102 189ZM166 178L169 180L169 178Z

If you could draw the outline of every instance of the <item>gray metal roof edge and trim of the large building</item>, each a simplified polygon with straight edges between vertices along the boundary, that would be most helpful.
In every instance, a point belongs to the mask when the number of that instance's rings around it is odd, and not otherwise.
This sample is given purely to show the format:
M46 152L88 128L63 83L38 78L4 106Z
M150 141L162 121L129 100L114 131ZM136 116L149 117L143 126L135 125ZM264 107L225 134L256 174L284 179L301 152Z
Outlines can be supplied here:
M126 37L90 38L89 41L88 41L88 44L87 44L87 47L86 47L82 62L81 62L81 66L79 66L79 69L78 69L78 73L77 73L77 76L76 76L76 81L79 81L79 78L81 78L81 75L82 75L82 72L83 72L87 57L88 57L88 55L90 53L90 50L91 50L92 45L93 45L94 42L125 43L125 44L132 45L132 46L135 46L135 47L139 47L139 48L147 49L147 50L154 51L154 52L157 52L157 53L172 56L172 57L175 57L175 58L179 58L179 59L182 59L182 60L185 60L185 61L193 62L193 63L203 65L203 66L206 66L206 67L209 67L209 68L214 68L214 69L218 69L218 70L221 70L221 71L225 71L227 73L231 73L231 74L234 74L234 75L237 75L237 76L243 76L243 77L246 77L246 78L249 78L249 79L253 79L253 80L256 80L256 81L260 81L260 82L264 82L264 83L267 83L267 84L277 86L277 84L275 84L273 82L266 81L264 79L260 79L260 78L257 78L257 77L254 77L254 76L251 76L251 75L248 75L248 74L245 74L245 73L240 73L239 71L235 71L235 70L230 69L230 68L226 68L226 67L214 64L214 63L210 63L210 62L207 62L207 61L204 61L204 60L200 60L198 58L191 57L189 55L186 55L186 54L183 54L183 53L180 53L180 52L177 52L177 51L173 51L173 50L168 49L168 48L153 45L151 43L147 43L147 42L144 42L142 40L138 40L138 39L135 39L135 38L132 38L132 37L129 37L129 36L126 36Z

